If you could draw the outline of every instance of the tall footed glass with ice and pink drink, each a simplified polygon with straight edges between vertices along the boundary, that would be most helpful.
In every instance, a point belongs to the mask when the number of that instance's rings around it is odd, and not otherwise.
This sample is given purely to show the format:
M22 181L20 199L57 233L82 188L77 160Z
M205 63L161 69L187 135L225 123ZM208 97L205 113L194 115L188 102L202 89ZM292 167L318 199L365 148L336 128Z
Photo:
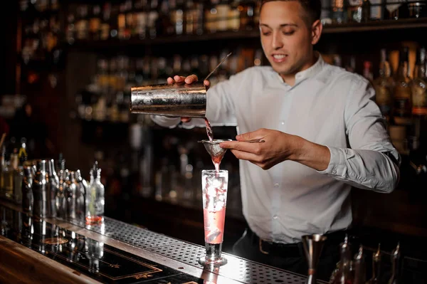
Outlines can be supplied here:
M224 223L226 221L226 201L228 172L226 170L203 170L201 172L204 209L204 236L206 256L199 259L203 265L223 265L221 257Z

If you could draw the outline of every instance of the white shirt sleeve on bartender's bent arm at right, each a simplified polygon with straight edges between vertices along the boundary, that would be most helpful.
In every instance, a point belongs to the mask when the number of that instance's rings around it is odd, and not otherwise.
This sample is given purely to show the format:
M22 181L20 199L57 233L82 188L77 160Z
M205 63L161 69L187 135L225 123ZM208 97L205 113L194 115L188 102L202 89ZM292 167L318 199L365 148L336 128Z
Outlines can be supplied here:
M367 80L353 80L344 111L349 148L330 147L330 163L322 174L359 189L389 193L399 182L401 157L374 102Z

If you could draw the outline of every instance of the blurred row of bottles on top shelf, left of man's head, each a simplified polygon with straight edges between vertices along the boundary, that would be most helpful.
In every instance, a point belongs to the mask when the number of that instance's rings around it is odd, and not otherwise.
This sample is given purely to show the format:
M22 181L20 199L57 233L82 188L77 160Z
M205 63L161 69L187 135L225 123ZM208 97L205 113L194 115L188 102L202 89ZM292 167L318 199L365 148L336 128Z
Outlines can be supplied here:
M80 4L68 14L66 40L156 38L251 31L260 1L125 0Z

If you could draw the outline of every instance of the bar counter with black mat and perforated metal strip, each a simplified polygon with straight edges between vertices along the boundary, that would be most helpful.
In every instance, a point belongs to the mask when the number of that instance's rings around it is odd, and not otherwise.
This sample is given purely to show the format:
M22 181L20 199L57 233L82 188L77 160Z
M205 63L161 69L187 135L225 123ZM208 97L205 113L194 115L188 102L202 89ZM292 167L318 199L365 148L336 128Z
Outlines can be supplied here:
M0 201L0 283L292 283L290 273L223 253L221 267L202 267L205 248L105 217L102 224L33 220ZM319 283L323 283L319 281Z

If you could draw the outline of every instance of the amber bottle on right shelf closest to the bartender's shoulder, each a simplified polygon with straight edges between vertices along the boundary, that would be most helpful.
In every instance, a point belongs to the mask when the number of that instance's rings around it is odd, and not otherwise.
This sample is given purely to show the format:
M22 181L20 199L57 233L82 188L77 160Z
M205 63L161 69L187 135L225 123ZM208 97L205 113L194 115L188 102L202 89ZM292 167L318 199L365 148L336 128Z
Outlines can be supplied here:
M391 68L387 51L381 49L381 62L379 65L379 77L374 80L375 100L381 113L389 120L393 106L394 80L391 77Z

